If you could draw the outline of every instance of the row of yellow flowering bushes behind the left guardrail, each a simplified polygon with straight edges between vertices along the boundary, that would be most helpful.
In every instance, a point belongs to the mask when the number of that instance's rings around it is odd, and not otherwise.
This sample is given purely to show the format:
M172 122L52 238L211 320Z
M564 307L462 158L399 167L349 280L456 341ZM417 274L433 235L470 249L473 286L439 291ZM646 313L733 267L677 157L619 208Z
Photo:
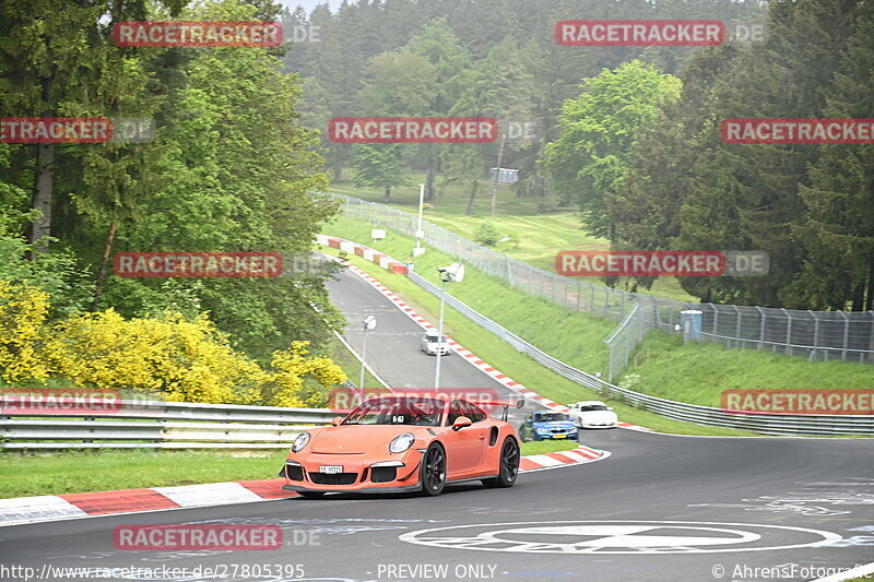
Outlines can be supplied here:
M76 387L160 393L175 402L320 406L346 380L309 342L273 353L271 369L236 352L206 313L125 319L113 309L49 328L48 297L0 281L0 366L7 381L61 377Z

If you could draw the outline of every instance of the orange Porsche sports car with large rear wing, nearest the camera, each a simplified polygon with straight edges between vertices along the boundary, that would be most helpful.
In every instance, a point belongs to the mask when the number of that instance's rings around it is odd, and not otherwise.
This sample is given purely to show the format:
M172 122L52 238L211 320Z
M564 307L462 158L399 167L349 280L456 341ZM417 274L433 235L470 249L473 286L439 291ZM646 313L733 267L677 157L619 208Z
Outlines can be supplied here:
M327 492L423 491L440 495L447 483L482 480L512 487L519 474L519 438L506 421L464 400L394 393L359 404L331 426L302 432L280 476L283 489L304 497Z

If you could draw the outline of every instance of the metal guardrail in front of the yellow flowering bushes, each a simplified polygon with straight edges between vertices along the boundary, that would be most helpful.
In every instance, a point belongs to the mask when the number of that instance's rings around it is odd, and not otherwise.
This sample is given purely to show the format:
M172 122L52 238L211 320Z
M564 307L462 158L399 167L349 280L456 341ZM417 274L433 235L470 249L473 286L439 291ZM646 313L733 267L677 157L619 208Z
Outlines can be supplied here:
M335 413L125 400L117 412L59 415L0 409L0 447L21 449L286 449Z

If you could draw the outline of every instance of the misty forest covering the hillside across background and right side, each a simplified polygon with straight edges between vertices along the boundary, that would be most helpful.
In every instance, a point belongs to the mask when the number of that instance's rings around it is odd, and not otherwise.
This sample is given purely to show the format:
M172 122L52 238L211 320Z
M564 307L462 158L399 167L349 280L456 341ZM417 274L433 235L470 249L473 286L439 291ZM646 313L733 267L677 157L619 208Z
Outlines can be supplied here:
M286 54L302 123L341 116L488 116L538 121L508 143L516 195L572 205L617 249L756 249L766 277L683 280L705 301L872 309L872 145L729 145L725 118L874 117L872 3L849 0L385 0L283 14L318 27ZM566 47L574 19L765 23L767 41L719 47ZM633 88L633 91L631 91ZM355 145L324 139L334 178L386 190L427 175L429 200L477 195L497 158L483 145ZM441 177L438 180L437 177ZM472 206L471 206L472 207ZM610 281L628 288L647 278Z

